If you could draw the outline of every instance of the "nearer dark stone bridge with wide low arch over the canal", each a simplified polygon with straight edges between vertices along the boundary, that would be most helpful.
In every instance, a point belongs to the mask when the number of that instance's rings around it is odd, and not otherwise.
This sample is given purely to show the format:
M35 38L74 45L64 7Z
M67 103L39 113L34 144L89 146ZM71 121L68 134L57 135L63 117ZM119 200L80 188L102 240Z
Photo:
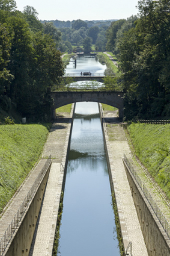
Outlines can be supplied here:
M119 110L120 119L123 118L123 92L51 92L53 98L53 117L55 109L67 104L92 101L111 105Z

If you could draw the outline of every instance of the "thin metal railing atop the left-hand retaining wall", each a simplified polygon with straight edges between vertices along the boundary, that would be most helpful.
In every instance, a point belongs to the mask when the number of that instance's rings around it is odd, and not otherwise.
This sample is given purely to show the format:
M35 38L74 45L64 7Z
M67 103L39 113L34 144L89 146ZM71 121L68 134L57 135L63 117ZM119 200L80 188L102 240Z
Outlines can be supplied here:
M34 196L35 190L38 187L38 184L40 184L40 181L42 180L43 176L49 169L51 163L51 155L47 159L46 163L44 164L43 168L41 169L40 173L38 174L36 180L34 181L34 184L32 185L31 189L29 190L28 194L26 195L25 199L23 200L22 204L19 207L19 210L14 215L13 220L11 221L10 225L6 229L4 236L2 236L0 240L0 256L4 254L5 249L8 246L8 243L10 243L11 238L13 237L14 232L16 231L17 227L19 226L20 220L23 217L23 214L25 213L26 209L28 208L29 202Z

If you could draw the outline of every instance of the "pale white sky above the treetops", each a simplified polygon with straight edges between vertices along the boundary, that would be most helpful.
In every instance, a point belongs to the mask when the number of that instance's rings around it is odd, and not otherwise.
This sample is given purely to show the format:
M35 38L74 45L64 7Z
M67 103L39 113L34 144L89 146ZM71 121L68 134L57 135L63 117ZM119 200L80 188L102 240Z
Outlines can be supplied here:
M17 10L26 5L38 12L41 20L127 19L138 13L138 0L16 0Z

